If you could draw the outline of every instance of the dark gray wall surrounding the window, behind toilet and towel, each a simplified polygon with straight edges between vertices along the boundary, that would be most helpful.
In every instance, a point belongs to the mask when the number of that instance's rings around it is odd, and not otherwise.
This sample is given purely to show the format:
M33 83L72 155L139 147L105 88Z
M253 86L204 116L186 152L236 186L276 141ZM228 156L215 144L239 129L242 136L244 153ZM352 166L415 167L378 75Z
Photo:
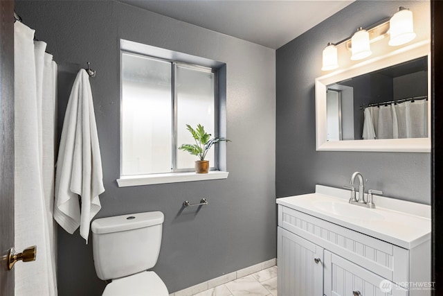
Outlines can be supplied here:
M163 211L154 270L170 293L275 258L273 49L113 1L16 1L15 9L63 70L87 61L96 69L91 87L106 189L97 217ZM227 180L118 188L120 38L226 62ZM60 76L59 124L72 77L69 70ZM202 197L209 204L200 211L182 209L184 200ZM101 295L91 243L78 232L59 228L58 235L60 295Z

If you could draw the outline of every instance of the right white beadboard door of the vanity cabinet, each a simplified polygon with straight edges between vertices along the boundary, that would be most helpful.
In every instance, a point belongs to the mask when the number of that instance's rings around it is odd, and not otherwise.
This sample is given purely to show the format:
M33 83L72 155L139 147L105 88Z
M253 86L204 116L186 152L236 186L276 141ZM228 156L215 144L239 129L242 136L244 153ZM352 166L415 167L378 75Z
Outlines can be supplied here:
M391 281L327 250L324 253L325 296L408 295L408 290Z

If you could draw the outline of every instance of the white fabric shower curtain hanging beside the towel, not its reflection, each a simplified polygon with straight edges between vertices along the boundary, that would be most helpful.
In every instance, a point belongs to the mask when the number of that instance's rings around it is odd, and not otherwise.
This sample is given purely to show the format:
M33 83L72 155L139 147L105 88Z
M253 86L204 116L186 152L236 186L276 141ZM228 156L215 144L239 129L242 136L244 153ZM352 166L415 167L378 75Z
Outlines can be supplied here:
M15 295L57 295L54 141L57 64L15 22L15 249L37 245L33 262L15 265Z

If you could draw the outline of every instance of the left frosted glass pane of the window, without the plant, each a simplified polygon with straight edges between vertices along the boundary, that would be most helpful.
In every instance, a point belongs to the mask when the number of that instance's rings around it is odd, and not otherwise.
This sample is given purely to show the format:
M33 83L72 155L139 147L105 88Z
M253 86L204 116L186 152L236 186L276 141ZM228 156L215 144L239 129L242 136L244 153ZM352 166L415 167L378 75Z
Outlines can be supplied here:
M171 64L122 54L122 175L169 173Z

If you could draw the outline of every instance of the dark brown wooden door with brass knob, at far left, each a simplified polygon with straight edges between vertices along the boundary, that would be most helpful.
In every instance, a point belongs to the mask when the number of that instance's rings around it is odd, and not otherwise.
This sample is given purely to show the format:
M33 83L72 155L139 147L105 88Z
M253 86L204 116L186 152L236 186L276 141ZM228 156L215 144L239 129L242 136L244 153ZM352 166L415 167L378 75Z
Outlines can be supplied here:
M14 295L14 1L0 1L0 295Z

